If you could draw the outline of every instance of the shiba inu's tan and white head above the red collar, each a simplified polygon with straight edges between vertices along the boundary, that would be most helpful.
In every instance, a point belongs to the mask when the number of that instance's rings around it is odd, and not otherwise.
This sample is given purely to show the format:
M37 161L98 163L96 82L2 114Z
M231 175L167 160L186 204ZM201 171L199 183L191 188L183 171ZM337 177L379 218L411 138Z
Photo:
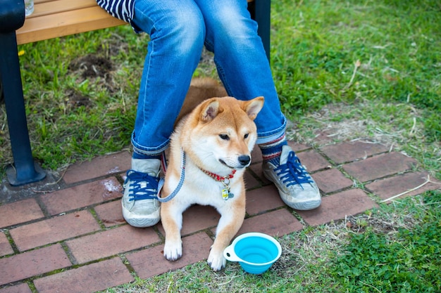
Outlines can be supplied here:
M196 164L210 171L248 167L257 139L254 119L262 107L263 97L205 100L189 117L190 131L182 143L185 151Z

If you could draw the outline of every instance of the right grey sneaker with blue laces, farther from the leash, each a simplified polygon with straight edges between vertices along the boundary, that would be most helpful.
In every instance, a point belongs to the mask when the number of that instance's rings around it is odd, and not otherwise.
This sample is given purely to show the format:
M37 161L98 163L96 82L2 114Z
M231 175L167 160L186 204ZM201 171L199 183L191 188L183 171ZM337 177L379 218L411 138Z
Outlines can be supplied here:
M280 164L263 163L263 175L273 182L288 207L306 211L321 204L320 191L294 151L283 145Z

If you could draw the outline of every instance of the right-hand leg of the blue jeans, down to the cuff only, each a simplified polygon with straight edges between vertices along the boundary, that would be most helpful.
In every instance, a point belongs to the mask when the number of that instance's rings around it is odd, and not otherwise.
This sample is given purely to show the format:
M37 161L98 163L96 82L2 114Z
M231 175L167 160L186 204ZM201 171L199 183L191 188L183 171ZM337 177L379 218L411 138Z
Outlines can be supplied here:
M251 20L246 0L195 0L206 22L205 45L214 53L214 62L230 96L251 100L265 98L265 106L255 120L257 143L272 141L284 133L286 119L266 58L257 24Z

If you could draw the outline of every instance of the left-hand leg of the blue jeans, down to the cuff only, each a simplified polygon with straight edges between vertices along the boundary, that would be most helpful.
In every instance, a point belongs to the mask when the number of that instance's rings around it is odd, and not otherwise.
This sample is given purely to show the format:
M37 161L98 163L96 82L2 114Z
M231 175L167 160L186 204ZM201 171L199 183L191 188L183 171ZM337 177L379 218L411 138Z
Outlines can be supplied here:
M192 0L137 0L135 25L150 35L139 88L135 152L165 150L204 46L205 27Z

